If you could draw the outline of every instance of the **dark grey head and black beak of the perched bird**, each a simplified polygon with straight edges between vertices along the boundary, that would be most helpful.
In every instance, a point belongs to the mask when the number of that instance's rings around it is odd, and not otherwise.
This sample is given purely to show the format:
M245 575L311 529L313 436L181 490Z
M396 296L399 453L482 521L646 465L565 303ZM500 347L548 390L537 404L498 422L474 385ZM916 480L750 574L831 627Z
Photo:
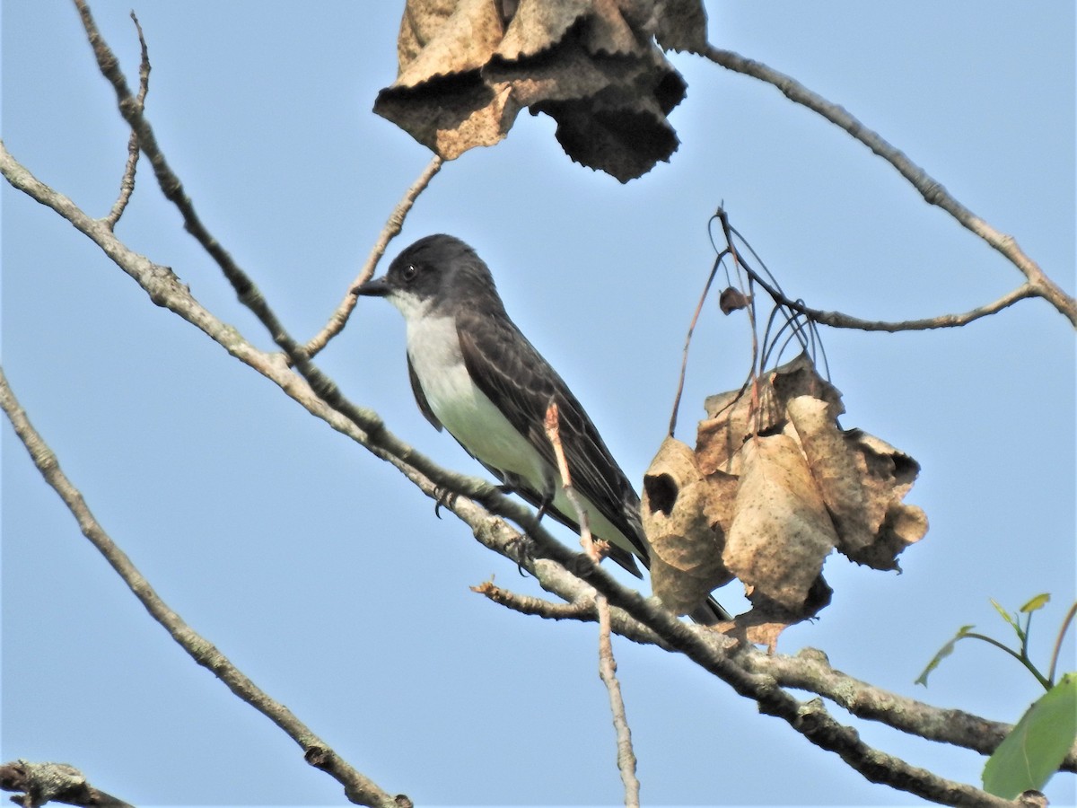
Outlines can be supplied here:
M355 293L384 297L407 319L451 310L462 302L480 311L504 311L482 259L459 238L444 234L420 238L393 260L384 276Z

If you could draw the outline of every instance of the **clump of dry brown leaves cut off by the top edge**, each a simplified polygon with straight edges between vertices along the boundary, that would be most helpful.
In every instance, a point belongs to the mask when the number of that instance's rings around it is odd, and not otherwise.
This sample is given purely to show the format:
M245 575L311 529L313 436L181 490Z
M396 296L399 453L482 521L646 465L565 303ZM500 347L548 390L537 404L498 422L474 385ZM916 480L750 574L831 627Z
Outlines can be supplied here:
M374 111L446 159L545 112L572 159L627 182L677 148L686 85L662 48L705 40L701 0L407 0Z

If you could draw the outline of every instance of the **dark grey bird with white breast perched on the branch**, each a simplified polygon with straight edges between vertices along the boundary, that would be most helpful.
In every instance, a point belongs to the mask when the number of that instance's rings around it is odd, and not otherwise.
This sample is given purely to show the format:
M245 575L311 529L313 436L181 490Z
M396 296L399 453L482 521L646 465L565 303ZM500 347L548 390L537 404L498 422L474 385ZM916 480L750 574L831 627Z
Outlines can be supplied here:
M490 268L453 236L436 234L405 248L386 274L354 288L384 297L404 316L407 370L419 409L447 430L510 491L579 532L554 446L545 431L557 404L572 486L592 537L637 577L651 547L640 498L572 390L508 317ZM691 613L698 623L729 619L713 598Z

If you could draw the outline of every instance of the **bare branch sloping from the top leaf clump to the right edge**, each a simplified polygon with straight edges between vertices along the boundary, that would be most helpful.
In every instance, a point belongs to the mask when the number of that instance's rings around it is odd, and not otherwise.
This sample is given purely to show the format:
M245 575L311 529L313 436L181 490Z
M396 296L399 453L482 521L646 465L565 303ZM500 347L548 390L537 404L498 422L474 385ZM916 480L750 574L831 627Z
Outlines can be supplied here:
M912 186L920 192L921 196L928 205L935 205L945 210L957 222L976 234L992 248L1002 253L1011 264L1013 264L1025 277L1030 289L1030 294L1023 296L1043 297L1064 315L1069 322L1077 328L1077 299L1066 294L1061 287L1052 281L1039 265L1029 257L1018 246L1012 236L999 233L985 221L973 213L968 208L959 203L950 193L924 169L913 163L909 157L895 148L879 134L872 131L856 117L851 115L842 107L827 101L816 93L808 89L800 82L789 75L754 59L747 59L731 51L723 51L711 44L704 45L698 51L716 65L733 70L738 73L751 75L754 79L771 84L780 89L786 98L795 103L802 105L813 112L819 113L830 123L841 127L853 138L866 145L877 155L890 163L897 171L908 180ZM1020 298L1017 298L1020 299ZM1012 303L1013 301L1010 301ZM1007 304L1008 305L1008 304ZM980 315L982 317L982 315ZM975 318L974 318L975 319ZM946 325L948 323L942 323ZM935 325L928 328L941 328ZM853 326L862 328L862 326ZM883 329L890 331L892 329Z

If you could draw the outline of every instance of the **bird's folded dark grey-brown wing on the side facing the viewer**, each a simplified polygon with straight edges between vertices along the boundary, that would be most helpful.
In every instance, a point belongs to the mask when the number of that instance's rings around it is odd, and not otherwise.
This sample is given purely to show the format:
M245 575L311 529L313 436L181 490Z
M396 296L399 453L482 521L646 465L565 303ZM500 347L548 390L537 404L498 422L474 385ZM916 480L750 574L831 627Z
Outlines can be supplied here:
M550 465L556 465L556 458L543 424L550 402L557 404L561 443L573 486L624 534L646 565L648 555L640 525L639 497L561 377L507 317L458 314L457 332L472 379ZM537 504L553 492L519 493ZM549 513L574 530L579 529L574 516ZM607 537L598 538L609 541ZM627 553L612 552L611 557L639 574L632 569L634 562L631 568L625 563L632 561Z

